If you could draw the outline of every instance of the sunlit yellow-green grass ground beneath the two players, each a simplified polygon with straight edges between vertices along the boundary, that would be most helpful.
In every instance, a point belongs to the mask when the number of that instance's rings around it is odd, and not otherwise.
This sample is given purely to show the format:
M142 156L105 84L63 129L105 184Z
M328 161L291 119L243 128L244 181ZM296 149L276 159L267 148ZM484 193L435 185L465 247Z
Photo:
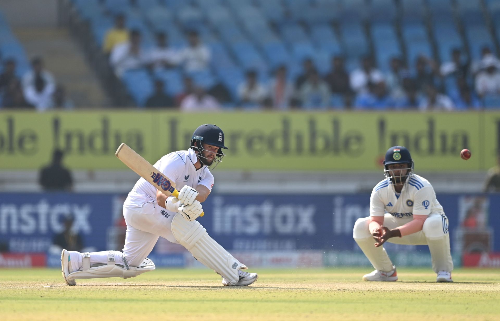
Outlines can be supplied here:
M500 320L500 269L398 269L397 282L364 282L369 268L255 269L226 287L207 269L156 269L130 279L77 280L58 269L0 269L6 320Z

